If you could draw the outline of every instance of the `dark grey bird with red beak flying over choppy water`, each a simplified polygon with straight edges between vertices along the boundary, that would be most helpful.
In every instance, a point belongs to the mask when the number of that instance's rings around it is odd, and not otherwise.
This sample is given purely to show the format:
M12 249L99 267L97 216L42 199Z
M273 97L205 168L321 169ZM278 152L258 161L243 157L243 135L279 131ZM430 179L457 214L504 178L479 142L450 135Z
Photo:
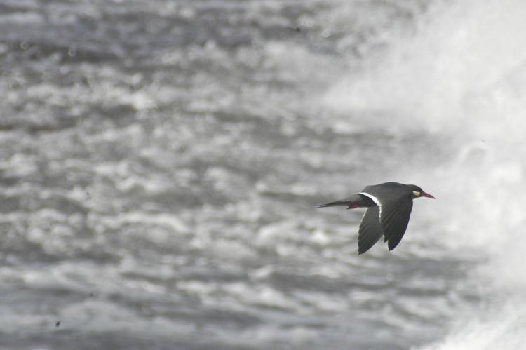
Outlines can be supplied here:
M393 250L407 229L413 199L435 198L414 184L386 182L365 187L349 198L322 204L318 208L347 206L347 209L365 207L358 230L358 254L365 253L384 235L389 250Z

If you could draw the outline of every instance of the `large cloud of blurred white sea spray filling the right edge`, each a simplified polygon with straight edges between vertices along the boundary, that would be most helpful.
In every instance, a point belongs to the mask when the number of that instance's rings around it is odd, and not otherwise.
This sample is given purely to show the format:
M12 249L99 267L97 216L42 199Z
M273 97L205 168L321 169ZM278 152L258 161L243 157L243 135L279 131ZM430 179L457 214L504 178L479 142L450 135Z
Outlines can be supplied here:
M437 198L415 205L414 227L430 224L412 235L433 237L445 254L483 261L469 274L483 304L451 314L450 335L424 349L520 349L526 342L524 18L518 0L437 3L414 38L400 37L387 57L325 96L341 115L365 111L360 116L374 115L374 125L388 124L395 134L447 140L438 166L404 160L395 175ZM432 149L426 155L435 159Z

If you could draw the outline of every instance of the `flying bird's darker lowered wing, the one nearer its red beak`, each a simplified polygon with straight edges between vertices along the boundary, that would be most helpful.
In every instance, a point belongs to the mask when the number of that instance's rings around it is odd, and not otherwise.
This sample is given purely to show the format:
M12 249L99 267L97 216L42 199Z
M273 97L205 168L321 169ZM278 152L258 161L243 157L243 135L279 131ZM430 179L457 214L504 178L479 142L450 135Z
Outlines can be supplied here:
M393 250L402 237L409 224L412 199L401 198L396 201L384 201L380 206L380 223L384 232L384 241L388 241L389 250Z

